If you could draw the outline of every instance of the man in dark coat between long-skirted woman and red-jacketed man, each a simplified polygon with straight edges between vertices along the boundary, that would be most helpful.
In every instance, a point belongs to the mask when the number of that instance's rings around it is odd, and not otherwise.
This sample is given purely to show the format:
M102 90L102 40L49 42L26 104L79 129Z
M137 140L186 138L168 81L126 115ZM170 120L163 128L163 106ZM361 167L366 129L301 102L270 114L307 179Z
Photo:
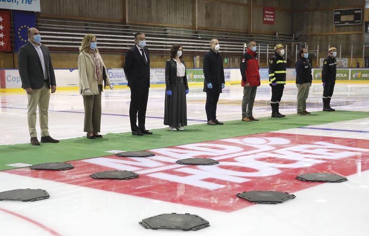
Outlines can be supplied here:
M218 52L220 46L218 39L210 40L210 51L203 57L204 87L203 92L207 93L205 110L208 124L223 124L216 118L216 109L219 95L225 87L223 59Z

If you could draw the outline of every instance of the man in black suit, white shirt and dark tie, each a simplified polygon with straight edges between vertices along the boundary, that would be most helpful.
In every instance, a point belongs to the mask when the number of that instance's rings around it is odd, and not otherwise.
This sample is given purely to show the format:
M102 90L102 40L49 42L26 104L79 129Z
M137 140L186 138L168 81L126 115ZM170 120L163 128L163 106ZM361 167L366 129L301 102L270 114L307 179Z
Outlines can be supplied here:
M150 88L150 54L146 46L146 37L142 32L134 36L135 46L126 53L124 72L131 89L130 121L133 135L151 135L146 130L146 108ZM138 126L137 121L138 112Z

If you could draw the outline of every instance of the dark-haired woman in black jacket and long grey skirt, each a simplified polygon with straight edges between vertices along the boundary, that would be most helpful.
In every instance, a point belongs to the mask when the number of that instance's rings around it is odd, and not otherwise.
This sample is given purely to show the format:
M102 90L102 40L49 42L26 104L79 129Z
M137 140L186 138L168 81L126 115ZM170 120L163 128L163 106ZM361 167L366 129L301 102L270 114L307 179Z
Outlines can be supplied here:
M187 125L186 94L189 93L186 65L182 60L182 46L174 44L171 59L166 62L166 95L164 124L170 131L182 131Z

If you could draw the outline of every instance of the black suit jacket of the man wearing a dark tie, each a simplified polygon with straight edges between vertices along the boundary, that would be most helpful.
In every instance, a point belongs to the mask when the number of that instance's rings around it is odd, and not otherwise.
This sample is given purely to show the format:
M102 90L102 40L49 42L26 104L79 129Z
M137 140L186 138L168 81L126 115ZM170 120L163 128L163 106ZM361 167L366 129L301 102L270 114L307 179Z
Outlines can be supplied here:
M123 66L126 78L128 80L128 86L132 89L135 88L148 88L150 87L150 53L149 49L144 47L144 52L147 58L147 64L145 65L145 59L142 57L138 48L133 46L126 53L126 59Z

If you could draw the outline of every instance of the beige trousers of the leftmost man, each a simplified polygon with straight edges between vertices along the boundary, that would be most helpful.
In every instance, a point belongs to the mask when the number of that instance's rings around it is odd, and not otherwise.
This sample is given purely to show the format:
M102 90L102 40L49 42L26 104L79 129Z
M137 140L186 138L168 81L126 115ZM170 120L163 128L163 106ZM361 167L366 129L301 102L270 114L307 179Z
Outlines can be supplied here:
M31 138L37 137L36 119L37 106L38 118L41 128L41 137L49 136L49 102L50 102L50 86L49 83L44 83L42 89L34 89L32 94L28 94L28 129Z

